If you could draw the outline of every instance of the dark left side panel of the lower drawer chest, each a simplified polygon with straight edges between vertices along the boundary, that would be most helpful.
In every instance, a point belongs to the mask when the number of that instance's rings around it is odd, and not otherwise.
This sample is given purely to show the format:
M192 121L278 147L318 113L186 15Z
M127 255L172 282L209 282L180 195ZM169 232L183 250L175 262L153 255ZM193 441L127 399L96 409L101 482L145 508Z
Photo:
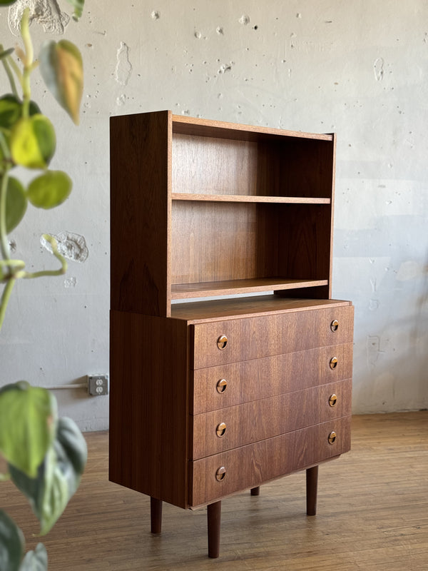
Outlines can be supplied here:
M138 492L187 502L188 328L111 312L109 477Z

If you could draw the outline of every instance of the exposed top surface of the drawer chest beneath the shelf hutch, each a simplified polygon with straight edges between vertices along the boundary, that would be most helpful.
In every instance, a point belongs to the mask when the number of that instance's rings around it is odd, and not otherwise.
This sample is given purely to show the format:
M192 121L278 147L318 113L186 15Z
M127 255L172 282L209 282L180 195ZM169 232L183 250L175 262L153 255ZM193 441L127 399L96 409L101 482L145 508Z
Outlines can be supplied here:
M171 317L188 323L206 323L240 319L254 315L289 313L329 307L352 305L350 301L335 299L281 298L277 295L255 295L248 298L230 298L188 303L173 303Z

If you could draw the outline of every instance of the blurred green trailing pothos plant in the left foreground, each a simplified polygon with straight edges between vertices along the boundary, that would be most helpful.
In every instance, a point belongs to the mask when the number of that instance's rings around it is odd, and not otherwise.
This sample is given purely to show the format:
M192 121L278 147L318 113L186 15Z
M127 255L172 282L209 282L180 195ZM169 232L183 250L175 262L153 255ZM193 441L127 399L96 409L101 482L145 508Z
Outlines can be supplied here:
M16 0L0 0L10 6ZM84 0L67 0L74 19L81 16ZM59 268L26 271L25 263L11 256L8 235L26 213L29 203L36 208L54 208L71 192L71 179L63 171L51 170L56 136L54 126L31 99L31 74L39 67L46 86L58 103L78 123L83 91L81 54L66 40L48 41L41 46L39 59L29 33L29 9L21 20L22 46L4 49L0 59L10 84L10 92L0 96L0 330L16 280L58 276L66 271L66 260L52 236L51 245ZM14 169L29 169L34 176L22 183ZM0 389L0 454L7 473L28 498L40 522L40 535L54 525L78 487L86 465L86 443L73 420L58 418L56 400L48 390L25 381ZM0 510L0 569L2 571L44 571L47 554L42 543L25 554L24 536L19 527Z

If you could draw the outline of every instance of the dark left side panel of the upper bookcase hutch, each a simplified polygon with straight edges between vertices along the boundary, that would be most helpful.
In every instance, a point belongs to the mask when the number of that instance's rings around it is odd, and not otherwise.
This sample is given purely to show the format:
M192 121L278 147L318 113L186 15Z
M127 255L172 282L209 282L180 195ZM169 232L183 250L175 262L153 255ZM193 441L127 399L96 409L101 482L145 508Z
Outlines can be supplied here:
M111 308L170 315L170 113L112 117Z

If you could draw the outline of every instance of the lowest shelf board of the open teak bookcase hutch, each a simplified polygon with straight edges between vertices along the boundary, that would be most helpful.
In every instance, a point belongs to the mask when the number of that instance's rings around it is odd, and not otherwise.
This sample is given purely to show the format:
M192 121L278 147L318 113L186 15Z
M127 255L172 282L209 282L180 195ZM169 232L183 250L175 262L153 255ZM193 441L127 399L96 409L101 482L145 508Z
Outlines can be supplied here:
M172 299L204 298L212 295L235 295L270 290L290 290L328 285L328 280L290 280L285 278L254 278L248 280L173 283Z

